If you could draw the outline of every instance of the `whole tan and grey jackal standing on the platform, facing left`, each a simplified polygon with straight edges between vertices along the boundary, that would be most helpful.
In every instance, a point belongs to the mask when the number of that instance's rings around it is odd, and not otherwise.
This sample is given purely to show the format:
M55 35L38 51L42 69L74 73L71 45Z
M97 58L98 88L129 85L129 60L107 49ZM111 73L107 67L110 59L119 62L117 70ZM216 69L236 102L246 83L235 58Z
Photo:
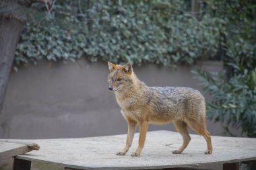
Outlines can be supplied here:
M189 126L205 138L205 154L212 154L211 136L205 123L205 99L199 91L187 87L148 87L139 81L129 63L114 65L108 62L108 68L109 89L115 91L128 124L125 147L117 155L125 155L131 147L136 126L139 126L139 146L131 155L134 157L140 155L144 146L148 124L170 122L174 122L176 130L183 136L183 145L172 153L182 153L189 144Z

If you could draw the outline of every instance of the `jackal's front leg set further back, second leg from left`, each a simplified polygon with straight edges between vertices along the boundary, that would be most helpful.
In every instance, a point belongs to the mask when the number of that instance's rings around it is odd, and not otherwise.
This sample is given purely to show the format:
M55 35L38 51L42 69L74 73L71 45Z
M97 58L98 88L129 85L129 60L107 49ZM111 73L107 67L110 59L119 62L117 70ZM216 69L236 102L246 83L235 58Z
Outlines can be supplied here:
M141 122L139 124L139 146L137 147L137 150L135 151L135 153L131 154L131 157L139 157L141 150L145 144L147 131L148 131L148 122L147 121Z

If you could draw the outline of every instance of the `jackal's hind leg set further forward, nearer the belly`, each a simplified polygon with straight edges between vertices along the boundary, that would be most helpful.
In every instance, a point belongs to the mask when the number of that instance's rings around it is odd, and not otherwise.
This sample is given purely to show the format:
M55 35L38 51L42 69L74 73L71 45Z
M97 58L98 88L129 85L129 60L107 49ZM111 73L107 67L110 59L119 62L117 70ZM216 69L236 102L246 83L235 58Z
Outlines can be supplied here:
M179 154L179 153L182 153L185 148L187 148L187 145L189 144L191 137L189 136L189 132L187 131L186 122L184 122L182 120L177 120L174 122L174 126L175 126L176 130L183 137L183 145L178 150L172 151L172 153L174 153L174 154Z

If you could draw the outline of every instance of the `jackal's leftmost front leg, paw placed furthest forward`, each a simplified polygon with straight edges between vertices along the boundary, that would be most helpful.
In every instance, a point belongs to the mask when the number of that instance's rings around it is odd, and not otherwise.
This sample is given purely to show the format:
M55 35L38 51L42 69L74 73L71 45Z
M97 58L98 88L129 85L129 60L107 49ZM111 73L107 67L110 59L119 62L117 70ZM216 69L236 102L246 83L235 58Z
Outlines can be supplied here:
M125 155L129 148L131 147L131 143L133 142L133 137L136 131L137 123L133 120L127 120L128 124L128 132L126 138L125 148L122 151L118 152L117 155Z

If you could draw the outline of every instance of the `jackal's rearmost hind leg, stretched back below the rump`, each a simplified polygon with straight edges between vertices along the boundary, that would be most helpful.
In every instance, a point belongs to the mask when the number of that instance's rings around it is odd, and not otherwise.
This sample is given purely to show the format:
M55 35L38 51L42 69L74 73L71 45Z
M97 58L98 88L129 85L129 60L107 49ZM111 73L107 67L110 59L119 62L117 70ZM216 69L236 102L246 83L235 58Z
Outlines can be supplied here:
M205 154L212 154L212 140L210 132L206 129L205 119L200 120L187 120L187 124L198 134L203 136L207 142L207 151L205 151Z

